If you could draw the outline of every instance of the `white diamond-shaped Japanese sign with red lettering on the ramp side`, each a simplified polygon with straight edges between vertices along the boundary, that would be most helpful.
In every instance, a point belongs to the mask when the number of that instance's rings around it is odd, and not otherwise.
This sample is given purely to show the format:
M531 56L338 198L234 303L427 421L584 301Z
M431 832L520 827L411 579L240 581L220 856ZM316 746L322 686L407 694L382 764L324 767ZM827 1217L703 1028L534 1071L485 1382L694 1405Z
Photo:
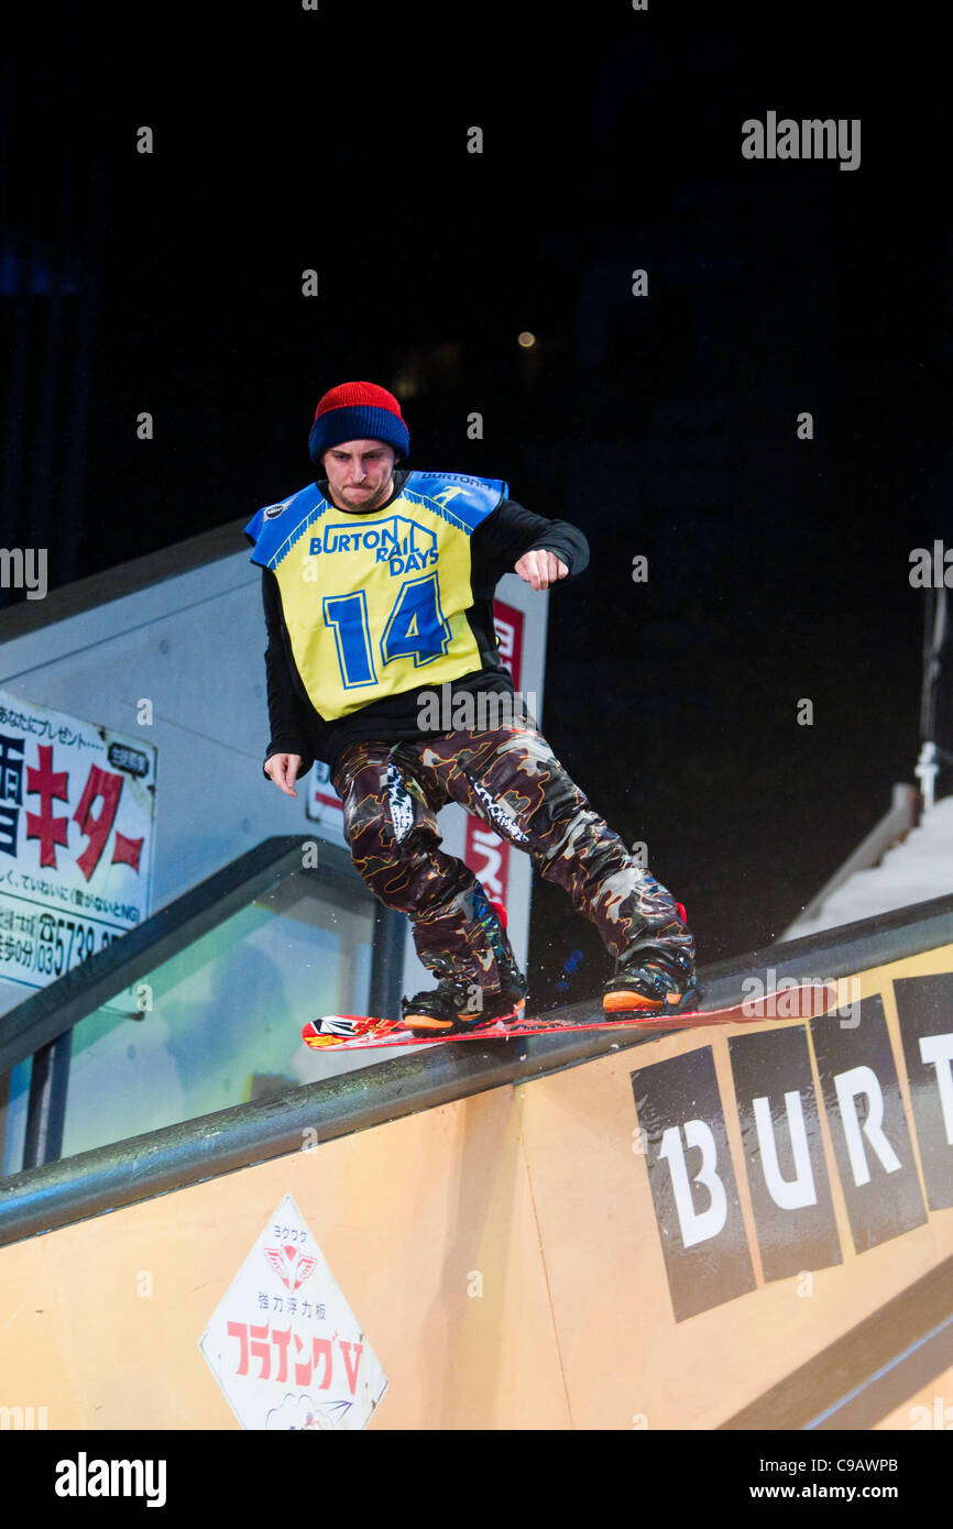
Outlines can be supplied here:
M243 1428L366 1428L387 1376L285 1196L199 1347Z

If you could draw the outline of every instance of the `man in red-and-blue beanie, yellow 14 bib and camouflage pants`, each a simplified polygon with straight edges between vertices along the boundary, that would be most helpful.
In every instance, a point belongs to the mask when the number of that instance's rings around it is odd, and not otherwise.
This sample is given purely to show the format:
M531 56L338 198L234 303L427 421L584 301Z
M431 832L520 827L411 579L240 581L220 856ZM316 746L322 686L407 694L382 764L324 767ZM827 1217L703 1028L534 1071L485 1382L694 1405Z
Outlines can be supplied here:
M520 972L497 907L441 850L436 813L457 801L564 887L616 957L609 1012L684 1003L694 942L684 910L627 852L522 714L499 656L493 592L512 570L534 590L577 578L583 534L508 498L499 479L408 471L398 399L343 382L318 404L314 483L245 528L262 566L271 742L265 774L286 795L324 760L344 836L375 898L413 924L437 986L402 1000L421 1035L512 1018ZM500 726L434 728L488 700ZM503 708L505 709L505 708ZM485 719L483 719L485 720ZM494 717L499 722L499 716ZM505 917L505 916L503 916Z

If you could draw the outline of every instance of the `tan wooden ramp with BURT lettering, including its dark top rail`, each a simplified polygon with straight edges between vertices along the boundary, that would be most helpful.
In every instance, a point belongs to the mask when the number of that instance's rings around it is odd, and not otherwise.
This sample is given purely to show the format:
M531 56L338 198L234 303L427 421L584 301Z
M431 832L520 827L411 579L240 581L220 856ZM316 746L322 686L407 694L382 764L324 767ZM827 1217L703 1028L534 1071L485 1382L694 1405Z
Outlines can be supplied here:
M291 1196L387 1376L370 1428L936 1427L953 939L844 950L774 953L838 979L826 1018L442 1047L5 1180L0 1405L237 1428L199 1341ZM297 1333L259 1294L234 1385Z

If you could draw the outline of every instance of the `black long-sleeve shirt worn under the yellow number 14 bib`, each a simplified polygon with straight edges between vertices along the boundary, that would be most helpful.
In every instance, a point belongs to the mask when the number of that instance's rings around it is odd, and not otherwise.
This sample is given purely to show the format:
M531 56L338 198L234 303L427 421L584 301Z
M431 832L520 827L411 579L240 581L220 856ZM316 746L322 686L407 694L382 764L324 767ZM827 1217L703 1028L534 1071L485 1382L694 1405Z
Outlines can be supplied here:
M393 494L387 503L396 498L408 477L408 471L395 472ZM318 480L318 488L327 498L327 482ZM384 509L384 505L376 508ZM344 511L344 514L353 512ZM577 526L571 526L564 520L546 520L543 515L525 509L523 505L517 505L512 498L500 500L471 534L470 558L474 602L467 610L467 621L477 642L480 668L450 683L451 702L459 691L470 691L474 696L480 691L512 693L509 670L499 656L493 624L493 595L503 573L511 573L523 553L532 552L535 547L555 552L569 569L566 578L558 579L551 589L569 584L589 563L589 543ZM402 739L433 735L418 723L422 697L433 696L433 687L385 696L382 700L370 702L359 711L335 722L321 717L298 676L281 612L278 581L266 567L262 569L262 599L268 627L265 668L271 726L271 742L265 754L266 763L272 754L300 754L298 780L301 780L315 760L323 760L333 771L341 751L356 740L396 743Z

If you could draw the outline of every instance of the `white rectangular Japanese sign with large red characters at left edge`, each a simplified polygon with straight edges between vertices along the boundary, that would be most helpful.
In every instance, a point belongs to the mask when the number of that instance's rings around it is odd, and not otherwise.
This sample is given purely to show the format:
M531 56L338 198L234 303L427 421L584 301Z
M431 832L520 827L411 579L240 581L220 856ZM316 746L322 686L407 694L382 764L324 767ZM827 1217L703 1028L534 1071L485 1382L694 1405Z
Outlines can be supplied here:
M0 691L0 977L44 988L148 916L156 748Z

